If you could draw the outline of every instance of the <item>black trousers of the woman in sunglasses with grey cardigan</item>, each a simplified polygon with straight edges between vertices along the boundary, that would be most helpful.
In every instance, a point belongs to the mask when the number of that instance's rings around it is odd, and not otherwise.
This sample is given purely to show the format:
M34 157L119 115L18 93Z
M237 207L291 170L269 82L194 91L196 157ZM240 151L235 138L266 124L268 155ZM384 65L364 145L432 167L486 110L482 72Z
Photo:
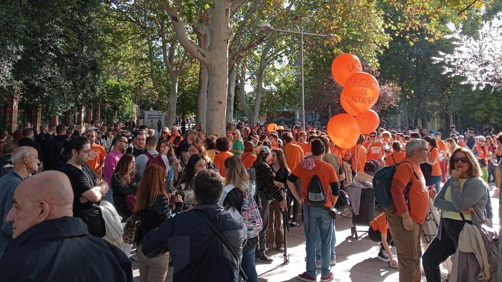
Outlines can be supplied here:
M472 223L470 220L465 222ZM436 235L422 255L422 265L424 266L427 282L441 282L439 264L455 253L458 237L460 231L464 228L465 222L463 220L443 218L441 240Z

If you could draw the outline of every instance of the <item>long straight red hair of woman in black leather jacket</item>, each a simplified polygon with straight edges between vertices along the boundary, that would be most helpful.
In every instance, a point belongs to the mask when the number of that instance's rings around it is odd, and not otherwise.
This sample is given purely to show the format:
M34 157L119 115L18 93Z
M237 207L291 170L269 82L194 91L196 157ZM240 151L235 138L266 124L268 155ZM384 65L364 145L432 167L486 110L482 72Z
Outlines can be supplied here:
M140 187L136 195L136 203L134 210L142 211L148 207L152 207L157 200L157 196L166 192L166 168L157 164L151 164L141 176ZM148 201L150 202L148 203Z

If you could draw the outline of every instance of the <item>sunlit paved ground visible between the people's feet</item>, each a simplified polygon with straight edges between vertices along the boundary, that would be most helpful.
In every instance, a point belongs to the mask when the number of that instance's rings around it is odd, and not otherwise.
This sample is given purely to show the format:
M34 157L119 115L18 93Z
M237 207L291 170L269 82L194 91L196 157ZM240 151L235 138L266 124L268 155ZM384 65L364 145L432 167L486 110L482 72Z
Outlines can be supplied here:
M493 223L498 230L498 198L492 198ZM352 239L350 235L351 219L343 217L336 221L336 266L332 267L335 281L356 282L390 282L398 281L398 269L391 268L387 263L376 258L379 248L367 238L367 233L360 232L358 239ZM497 223L497 225L495 225ZM359 227L364 230L367 227ZM305 235L303 224L300 227L291 228L288 234L288 252L290 263L283 263L283 253L270 251L269 255L274 258L272 264L257 264L259 280L261 282L286 282L300 281L296 276L305 271ZM393 248L395 252L395 248ZM135 281L140 281L137 263L133 264ZM172 281L173 267L169 267L166 281ZM320 279L320 278L318 278ZM422 278L425 281L425 278Z

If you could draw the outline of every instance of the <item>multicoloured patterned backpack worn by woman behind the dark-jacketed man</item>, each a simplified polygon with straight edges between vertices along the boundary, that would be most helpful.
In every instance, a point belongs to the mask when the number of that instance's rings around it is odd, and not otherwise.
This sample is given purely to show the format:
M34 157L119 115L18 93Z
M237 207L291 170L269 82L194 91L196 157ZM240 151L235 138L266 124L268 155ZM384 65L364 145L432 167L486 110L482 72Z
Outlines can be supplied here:
M223 194L220 198L220 205L223 206L223 202L226 195L235 188L233 185L227 185L223 188ZM240 216L244 225L246 226L247 233L246 238L253 238L258 236L260 231L263 229L263 220L260 215L260 210L255 201L255 194L257 193L256 185L254 181L249 181L249 186L244 190L242 197L242 207L240 209Z

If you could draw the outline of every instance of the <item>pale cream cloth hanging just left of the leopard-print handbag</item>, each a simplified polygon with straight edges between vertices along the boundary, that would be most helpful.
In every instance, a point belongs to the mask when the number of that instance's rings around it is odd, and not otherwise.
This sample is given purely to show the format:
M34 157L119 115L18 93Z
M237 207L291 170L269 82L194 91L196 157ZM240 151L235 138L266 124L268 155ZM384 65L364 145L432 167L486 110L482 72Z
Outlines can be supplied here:
M117 210L107 201L101 201L99 203L99 209L103 216L104 225L106 227L106 235L103 237L104 240L108 241L112 245L122 248L122 224L120 221L122 218L118 215Z

